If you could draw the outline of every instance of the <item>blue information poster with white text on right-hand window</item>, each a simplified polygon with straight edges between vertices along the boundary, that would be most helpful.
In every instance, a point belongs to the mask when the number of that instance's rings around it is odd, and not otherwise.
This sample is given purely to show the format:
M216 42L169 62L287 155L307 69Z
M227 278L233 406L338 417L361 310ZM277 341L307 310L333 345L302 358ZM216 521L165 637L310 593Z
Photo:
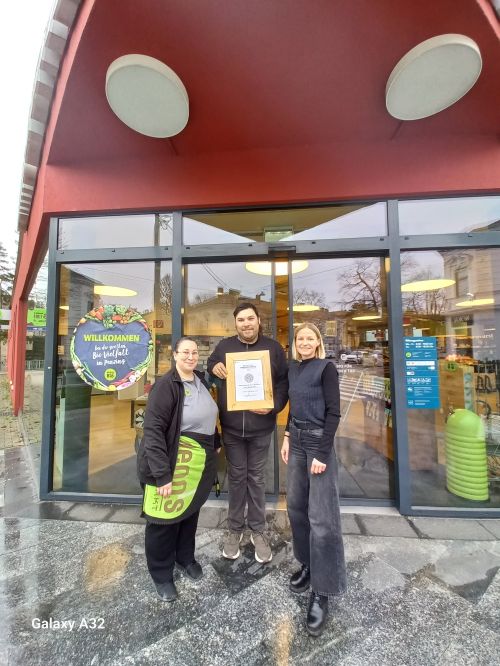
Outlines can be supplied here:
M439 409L437 338L404 338L406 405Z

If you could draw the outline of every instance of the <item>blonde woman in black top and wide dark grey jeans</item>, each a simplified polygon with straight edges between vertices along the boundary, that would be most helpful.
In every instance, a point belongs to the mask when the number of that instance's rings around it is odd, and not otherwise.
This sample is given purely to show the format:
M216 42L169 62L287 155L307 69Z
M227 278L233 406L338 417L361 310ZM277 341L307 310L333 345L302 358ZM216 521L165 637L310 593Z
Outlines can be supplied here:
M301 563L290 578L297 594L311 587L306 628L319 636L328 598L346 588L338 467L333 445L340 420L337 368L325 359L312 323L297 326L288 371L290 414L281 447L288 465L287 504L293 551Z

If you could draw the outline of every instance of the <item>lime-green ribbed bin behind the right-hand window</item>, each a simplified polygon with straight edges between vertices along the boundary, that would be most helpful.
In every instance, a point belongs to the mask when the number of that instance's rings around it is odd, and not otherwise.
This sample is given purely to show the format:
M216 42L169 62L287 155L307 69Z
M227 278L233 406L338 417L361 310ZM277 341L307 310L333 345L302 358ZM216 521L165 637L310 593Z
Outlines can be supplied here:
M489 499L486 438L481 418L456 409L446 423L446 487L458 497Z

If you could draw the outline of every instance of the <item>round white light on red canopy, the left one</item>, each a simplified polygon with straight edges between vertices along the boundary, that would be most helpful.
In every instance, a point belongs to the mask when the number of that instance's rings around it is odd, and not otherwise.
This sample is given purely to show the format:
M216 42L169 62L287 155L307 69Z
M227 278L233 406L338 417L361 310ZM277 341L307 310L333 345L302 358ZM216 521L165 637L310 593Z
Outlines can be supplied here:
M106 98L118 118L140 134L164 139L187 125L186 88L156 58L131 53L114 60L106 73Z

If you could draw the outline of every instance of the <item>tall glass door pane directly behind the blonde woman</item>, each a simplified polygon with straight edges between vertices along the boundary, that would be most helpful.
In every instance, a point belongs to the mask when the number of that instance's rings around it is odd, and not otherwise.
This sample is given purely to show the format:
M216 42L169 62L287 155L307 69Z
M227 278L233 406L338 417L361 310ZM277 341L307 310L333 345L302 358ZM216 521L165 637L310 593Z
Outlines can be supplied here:
M340 493L394 496L394 450L383 258L310 259L292 275L293 325L312 322L340 378Z

